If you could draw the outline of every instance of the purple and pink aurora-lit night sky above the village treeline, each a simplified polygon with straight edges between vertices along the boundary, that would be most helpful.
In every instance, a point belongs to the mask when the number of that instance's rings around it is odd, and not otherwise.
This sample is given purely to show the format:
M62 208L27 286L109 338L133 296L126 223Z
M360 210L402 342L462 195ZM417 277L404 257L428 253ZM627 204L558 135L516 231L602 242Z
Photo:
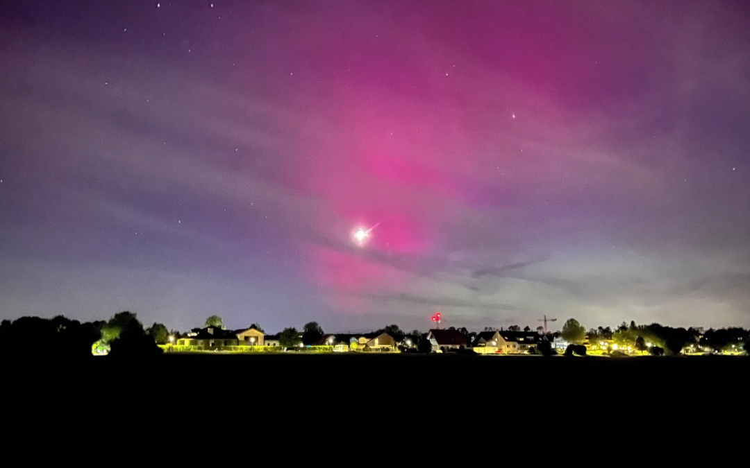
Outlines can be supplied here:
M2 319L750 326L744 1L5 1L0 31Z

